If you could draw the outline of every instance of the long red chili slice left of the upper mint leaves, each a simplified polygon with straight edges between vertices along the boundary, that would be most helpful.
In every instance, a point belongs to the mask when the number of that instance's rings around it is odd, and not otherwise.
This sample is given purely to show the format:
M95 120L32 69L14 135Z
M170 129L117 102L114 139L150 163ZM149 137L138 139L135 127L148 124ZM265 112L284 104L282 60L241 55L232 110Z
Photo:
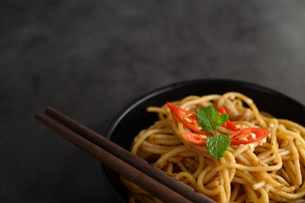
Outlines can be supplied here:
M184 124L192 132L206 136L213 135L212 133L207 133L204 130L200 130L202 128L198 122L196 114L193 114L185 109L179 108L170 102L167 102L166 105L171 109L172 113L177 117L177 119L179 119L179 121L182 122L182 124Z

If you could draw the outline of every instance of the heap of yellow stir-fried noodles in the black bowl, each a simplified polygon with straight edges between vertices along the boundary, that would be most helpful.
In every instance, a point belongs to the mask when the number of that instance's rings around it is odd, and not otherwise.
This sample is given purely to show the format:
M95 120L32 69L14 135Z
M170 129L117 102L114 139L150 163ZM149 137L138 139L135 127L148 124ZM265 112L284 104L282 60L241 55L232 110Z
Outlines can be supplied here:
M148 107L159 120L134 138L133 154L219 203L305 203L303 126L260 112L250 98L237 92L188 96L172 104L190 112L224 106L238 129L263 128L270 134L257 142L231 144L217 160L206 146L186 140L183 134L191 130L167 105ZM223 126L216 131L233 133ZM130 203L160 203L124 177L120 180L130 192Z

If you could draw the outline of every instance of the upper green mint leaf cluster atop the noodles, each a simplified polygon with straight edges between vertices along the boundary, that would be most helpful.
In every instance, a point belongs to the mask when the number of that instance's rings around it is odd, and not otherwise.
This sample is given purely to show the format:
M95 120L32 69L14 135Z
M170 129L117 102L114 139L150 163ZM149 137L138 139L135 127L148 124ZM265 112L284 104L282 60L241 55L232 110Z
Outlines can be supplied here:
M216 130L220 125L229 121L228 114L221 114L218 116L216 108L208 106L201 108L196 111L198 122L200 126L208 133Z

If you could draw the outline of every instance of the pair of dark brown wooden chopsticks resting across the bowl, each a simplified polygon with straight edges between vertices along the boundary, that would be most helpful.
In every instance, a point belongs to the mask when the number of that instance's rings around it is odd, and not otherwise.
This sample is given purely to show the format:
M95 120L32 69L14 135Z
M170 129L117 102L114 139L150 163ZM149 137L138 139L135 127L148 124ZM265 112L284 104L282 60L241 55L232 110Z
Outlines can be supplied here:
M57 122L40 113L36 113L35 118L159 200L165 203L215 203L57 110L48 107L46 113Z

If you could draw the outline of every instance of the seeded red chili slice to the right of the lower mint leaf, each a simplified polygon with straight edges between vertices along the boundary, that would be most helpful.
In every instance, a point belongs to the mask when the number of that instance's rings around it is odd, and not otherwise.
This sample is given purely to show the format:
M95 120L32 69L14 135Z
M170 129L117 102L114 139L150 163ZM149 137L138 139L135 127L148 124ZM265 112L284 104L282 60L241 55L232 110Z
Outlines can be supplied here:
M265 138L269 133L268 130L262 128L243 128L230 135L231 144L239 145L256 142ZM247 138L247 140L245 138Z

